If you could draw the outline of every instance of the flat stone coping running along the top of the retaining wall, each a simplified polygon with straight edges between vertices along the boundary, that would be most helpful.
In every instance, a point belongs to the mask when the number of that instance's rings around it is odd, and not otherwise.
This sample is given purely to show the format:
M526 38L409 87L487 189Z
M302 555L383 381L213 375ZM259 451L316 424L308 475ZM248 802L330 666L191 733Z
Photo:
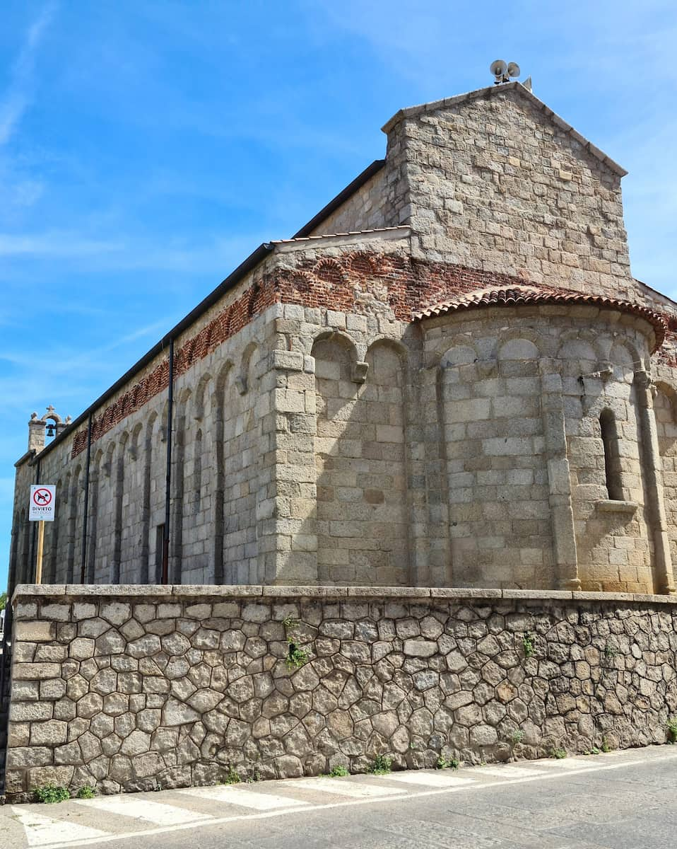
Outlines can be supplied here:
M63 599L83 596L126 596L166 599L167 597L223 598L306 598L306 599L513 599L520 601L621 601L641 604L677 604L677 595L646 593L585 593L568 590L482 589L465 587L297 587L215 584L19 584L12 597L17 599L49 596Z

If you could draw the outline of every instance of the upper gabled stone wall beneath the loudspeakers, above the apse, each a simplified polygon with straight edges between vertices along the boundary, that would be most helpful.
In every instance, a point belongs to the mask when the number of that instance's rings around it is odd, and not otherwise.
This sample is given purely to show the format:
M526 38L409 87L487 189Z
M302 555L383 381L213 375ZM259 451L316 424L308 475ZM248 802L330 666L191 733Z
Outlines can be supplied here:
M563 126L562 126L563 125ZM400 175L415 256L629 295L618 166L602 162L518 84L395 115L387 166Z

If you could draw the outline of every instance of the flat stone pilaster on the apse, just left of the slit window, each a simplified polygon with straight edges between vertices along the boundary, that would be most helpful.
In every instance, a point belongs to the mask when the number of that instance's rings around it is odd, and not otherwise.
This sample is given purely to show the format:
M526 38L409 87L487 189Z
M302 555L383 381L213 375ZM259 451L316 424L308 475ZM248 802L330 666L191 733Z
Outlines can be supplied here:
M552 548L557 569L557 588L580 589L576 535L573 529L571 479L567 458L567 436L562 403L562 376L557 363L540 361L540 409L546 443Z

